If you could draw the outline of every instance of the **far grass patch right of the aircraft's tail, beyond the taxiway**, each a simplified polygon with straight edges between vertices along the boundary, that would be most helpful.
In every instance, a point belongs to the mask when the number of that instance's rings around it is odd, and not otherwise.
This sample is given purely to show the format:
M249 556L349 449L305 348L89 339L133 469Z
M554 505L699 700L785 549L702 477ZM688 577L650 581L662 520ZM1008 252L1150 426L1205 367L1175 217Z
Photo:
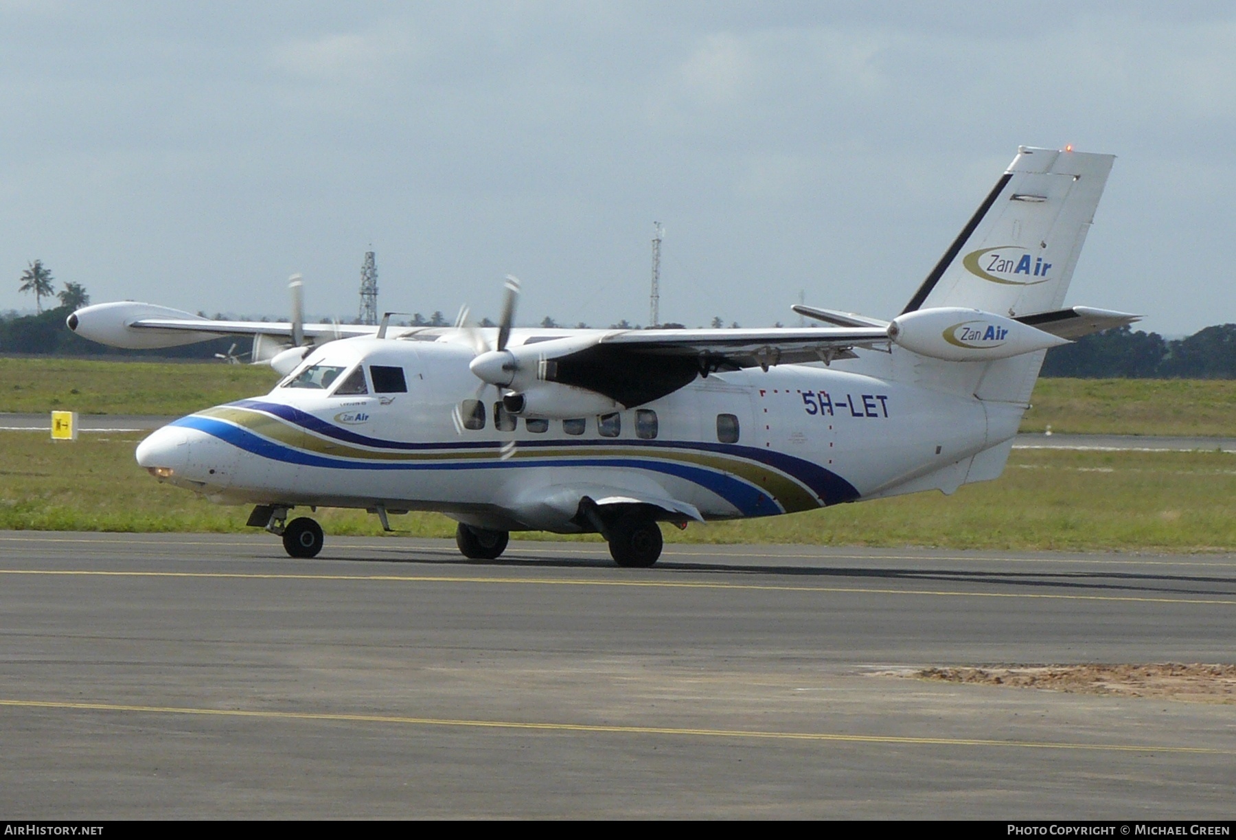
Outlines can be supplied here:
M1043 379L1022 432L1236 437L1236 380Z

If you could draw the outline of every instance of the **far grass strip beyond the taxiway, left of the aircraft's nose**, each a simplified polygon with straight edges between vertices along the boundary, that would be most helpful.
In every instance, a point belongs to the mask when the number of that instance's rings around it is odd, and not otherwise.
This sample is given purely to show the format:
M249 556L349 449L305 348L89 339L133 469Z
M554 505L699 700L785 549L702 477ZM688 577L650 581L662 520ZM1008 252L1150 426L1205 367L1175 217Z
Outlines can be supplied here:
M189 414L268 392L266 365L0 358L0 411Z

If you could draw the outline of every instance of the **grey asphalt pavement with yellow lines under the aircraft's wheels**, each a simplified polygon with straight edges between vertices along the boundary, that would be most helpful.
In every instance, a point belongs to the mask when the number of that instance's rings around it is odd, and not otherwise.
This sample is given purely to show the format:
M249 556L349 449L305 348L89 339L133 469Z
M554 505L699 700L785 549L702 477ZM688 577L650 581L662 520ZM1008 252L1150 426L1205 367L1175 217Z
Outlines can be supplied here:
M922 682L1232 662L1236 557L0 532L0 810L1230 818L1232 705Z

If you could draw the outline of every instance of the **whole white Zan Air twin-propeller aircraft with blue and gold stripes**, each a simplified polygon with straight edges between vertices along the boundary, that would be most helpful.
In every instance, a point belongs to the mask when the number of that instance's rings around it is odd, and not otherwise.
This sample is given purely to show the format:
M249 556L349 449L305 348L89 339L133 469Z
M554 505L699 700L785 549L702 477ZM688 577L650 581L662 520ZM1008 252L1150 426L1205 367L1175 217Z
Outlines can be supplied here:
M815 329L512 329L215 322L143 303L73 313L124 348L253 336L287 377L137 447L161 481L255 505L293 557L294 507L441 511L471 558L510 531L601 533L619 565L659 522L771 516L997 478L1048 348L1137 319L1060 308L1112 156L1018 150L891 322L796 306ZM460 319L464 322L464 318ZM822 364L821 364L822 362Z

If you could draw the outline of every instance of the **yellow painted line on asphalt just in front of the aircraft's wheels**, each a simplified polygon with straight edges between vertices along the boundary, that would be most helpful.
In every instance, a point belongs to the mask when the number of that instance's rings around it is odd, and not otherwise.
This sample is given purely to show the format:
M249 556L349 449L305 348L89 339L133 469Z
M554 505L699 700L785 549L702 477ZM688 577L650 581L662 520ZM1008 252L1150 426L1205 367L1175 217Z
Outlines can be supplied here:
M1209 604L1236 606L1236 600L1156 598L1145 595L1064 595L1052 593L967 593L950 589L878 589L874 586L792 586L682 580L587 580L571 578L465 578L461 575L286 574L255 572L98 572L90 569L0 569L0 574L84 578L213 578L239 580L356 580L541 586L622 586L643 589L723 589L776 593L847 593L860 595L929 595L936 598L1026 598L1065 601L1133 601L1141 604Z

